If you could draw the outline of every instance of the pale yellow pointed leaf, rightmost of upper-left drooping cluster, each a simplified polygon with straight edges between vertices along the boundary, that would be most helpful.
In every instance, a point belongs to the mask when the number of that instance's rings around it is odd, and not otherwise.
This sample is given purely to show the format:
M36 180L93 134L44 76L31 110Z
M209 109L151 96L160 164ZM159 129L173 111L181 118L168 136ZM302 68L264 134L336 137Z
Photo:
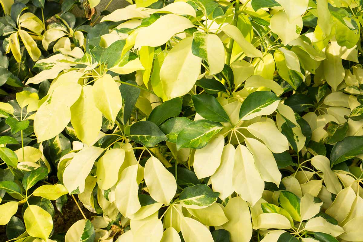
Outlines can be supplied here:
M122 107L122 97L111 75L106 74L93 85L93 100L99 111L111 122Z

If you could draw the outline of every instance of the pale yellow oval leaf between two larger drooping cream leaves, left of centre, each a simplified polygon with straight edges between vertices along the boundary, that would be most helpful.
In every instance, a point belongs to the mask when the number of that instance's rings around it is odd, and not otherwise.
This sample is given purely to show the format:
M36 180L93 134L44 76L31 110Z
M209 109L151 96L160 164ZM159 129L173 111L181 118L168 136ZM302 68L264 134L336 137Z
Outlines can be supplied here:
M124 160L124 149L110 149L99 158L96 172L99 188L107 190L116 184Z

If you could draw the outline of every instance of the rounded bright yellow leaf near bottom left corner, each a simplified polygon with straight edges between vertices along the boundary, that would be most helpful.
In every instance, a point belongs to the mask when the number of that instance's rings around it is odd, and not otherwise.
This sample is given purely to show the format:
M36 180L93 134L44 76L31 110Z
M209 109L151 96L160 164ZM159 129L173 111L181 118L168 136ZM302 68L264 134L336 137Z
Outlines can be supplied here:
M53 229L52 216L40 206L30 205L24 212L26 232L30 236L48 240Z

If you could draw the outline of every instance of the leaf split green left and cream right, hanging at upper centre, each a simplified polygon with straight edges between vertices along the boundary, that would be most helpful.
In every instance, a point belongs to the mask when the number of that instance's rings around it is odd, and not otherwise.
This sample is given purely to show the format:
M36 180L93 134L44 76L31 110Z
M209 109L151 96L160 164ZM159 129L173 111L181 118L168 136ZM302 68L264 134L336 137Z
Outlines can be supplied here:
M224 67L223 42L215 34L193 33L192 53L209 64L209 75L220 73Z

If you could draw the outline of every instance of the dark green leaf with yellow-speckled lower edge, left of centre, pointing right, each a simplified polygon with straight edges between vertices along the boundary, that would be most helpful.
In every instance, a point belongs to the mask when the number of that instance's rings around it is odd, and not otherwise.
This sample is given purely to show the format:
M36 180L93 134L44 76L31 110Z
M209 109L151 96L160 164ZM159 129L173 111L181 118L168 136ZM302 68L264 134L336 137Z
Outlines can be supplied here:
M128 138L146 147L155 146L168 139L163 131L150 121L139 121L132 124Z

